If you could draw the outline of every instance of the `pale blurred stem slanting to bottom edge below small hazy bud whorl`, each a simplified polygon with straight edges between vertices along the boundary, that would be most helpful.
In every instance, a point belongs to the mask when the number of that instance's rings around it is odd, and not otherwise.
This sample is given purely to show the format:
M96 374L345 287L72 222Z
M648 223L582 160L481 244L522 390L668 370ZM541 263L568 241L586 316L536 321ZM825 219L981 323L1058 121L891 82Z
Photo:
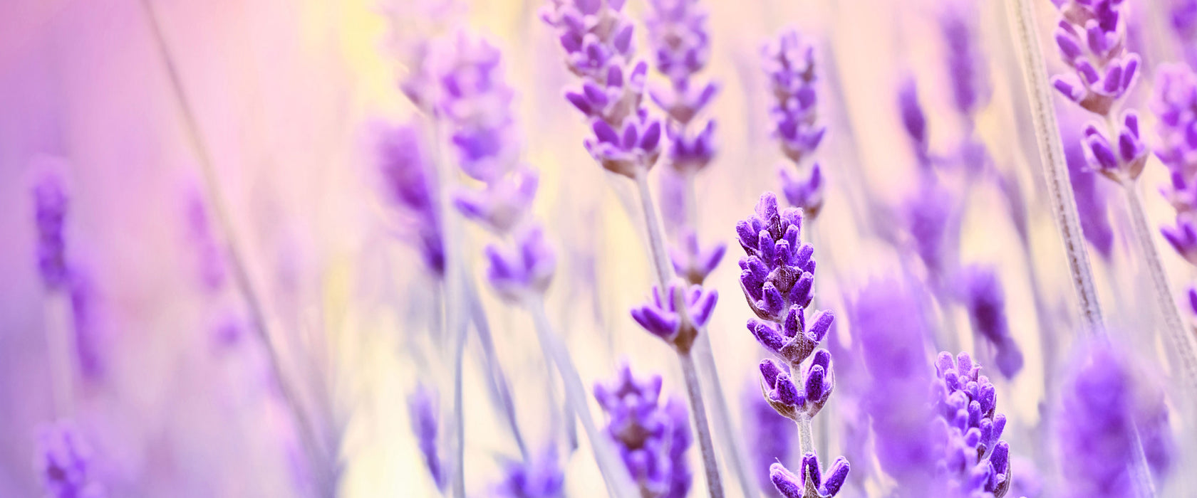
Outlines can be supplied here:
M624 467L624 462L619 457L619 453L615 450L610 438L598 432L595 425L594 417L590 414L590 407L587 404L587 389L582 386L582 376L578 375L578 369L573 365L573 359L570 358L570 352L565 349L565 344L561 344L560 338L553 332L553 326L548 322L543 299L540 296L528 299L524 306L528 308L528 313L531 314L535 325L534 328L536 330L536 339L546 345L543 352L552 356L552 358L546 358L545 361L557 365L557 371L561 376L561 385L565 387L565 398L569 400L573 412L578 414L582 429L587 432L587 438L590 439L595 462L598 465L598 471L607 481L607 493L614 498L638 497L639 491L632 484L632 478Z

